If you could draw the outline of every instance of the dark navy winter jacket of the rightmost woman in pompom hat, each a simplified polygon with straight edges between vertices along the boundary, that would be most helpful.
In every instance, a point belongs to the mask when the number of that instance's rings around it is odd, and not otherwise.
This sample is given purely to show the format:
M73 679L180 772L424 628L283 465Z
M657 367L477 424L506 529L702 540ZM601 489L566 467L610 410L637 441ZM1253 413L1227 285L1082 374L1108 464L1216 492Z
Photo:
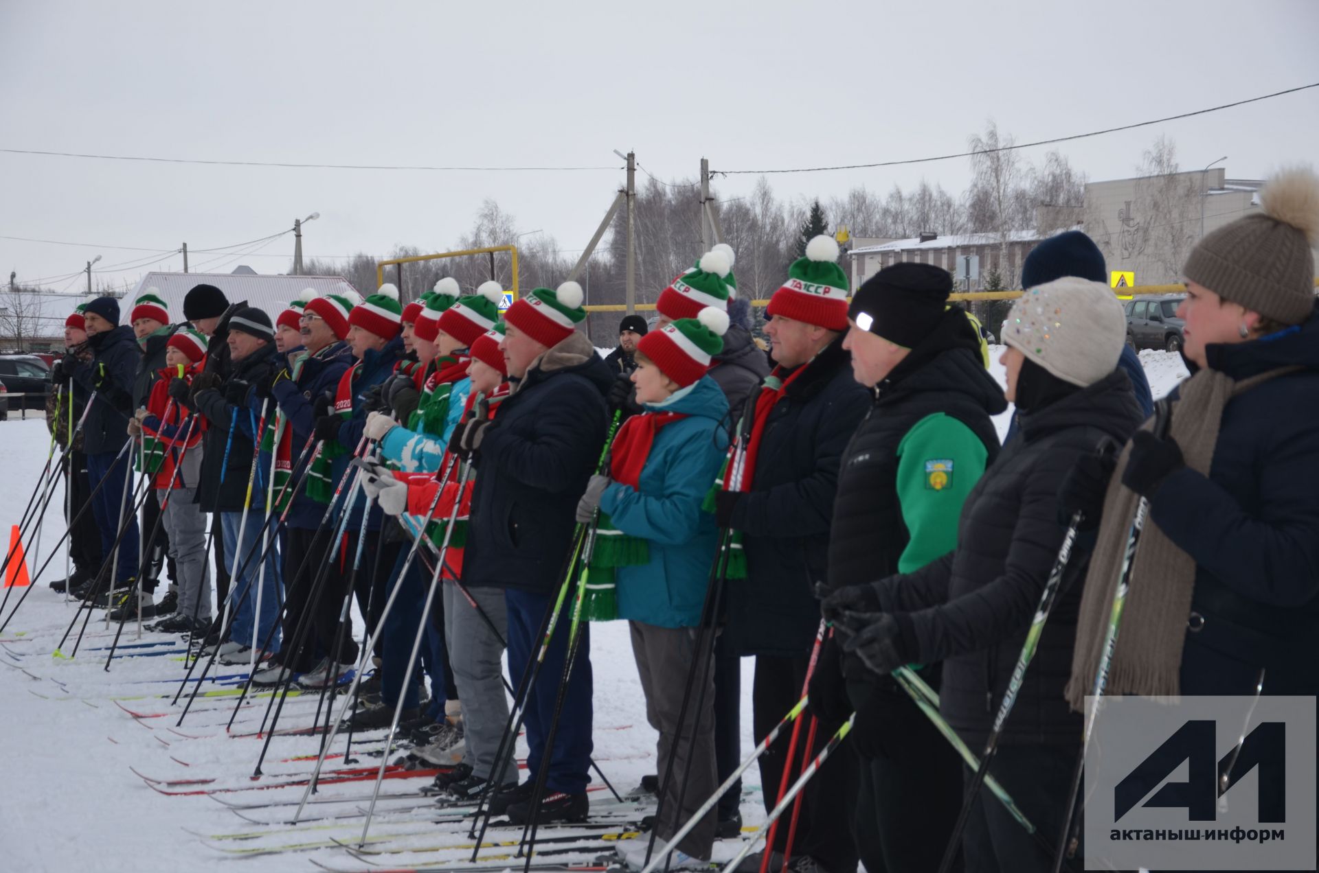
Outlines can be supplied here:
M1315 695L1319 310L1299 328L1207 353L1237 380L1303 369L1228 401L1210 475L1183 468L1150 501L1150 518L1196 563L1182 694L1253 695L1264 669L1264 694Z

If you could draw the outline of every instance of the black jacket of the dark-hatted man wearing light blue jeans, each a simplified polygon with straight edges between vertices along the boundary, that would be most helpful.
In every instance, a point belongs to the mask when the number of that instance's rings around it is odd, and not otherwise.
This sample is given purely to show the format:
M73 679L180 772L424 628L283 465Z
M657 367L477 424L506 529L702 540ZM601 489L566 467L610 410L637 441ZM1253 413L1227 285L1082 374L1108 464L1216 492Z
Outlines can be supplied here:
M231 361L231 372L226 377L253 382L270 368L270 353L274 342L268 342L240 361ZM251 389L248 390L251 394ZM247 417L248 409L233 406L224 400L224 389L198 392L197 411L207 422L202 447L202 475L198 481L197 502L203 512L243 512L247 497L247 484L253 464L252 430L248 422L239 426L239 417ZM264 505L265 495L255 484L252 505Z

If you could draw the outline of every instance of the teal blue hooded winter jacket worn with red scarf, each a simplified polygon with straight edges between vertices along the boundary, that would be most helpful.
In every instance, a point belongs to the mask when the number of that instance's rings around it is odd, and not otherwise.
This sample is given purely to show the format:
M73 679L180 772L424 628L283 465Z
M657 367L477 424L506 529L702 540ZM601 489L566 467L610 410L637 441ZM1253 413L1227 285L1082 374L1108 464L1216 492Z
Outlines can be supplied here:
M700 510L728 454L728 414L723 389L710 376L691 392L648 411L685 413L665 425L650 447L640 489L613 483L600 509L625 534L648 541L650 562L617 571L619 617L661 628L694 628L710 584L719 531Z

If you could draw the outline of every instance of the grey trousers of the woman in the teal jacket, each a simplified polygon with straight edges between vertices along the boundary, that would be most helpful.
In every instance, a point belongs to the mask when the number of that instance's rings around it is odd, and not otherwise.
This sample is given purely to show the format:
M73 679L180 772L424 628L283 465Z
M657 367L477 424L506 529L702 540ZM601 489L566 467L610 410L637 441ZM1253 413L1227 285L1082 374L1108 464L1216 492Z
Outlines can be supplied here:
M704 675L698 682L704 684L704 695L698 684L691 690L687 704L687 719L678 729L678 712L682 709L682 695L687 687L687 675L696 651L695 628L657 628L654 625L629 621L632 630L632 654L637 659L637 673L641 674L641 690L646 695L646 721L660 732L657 756L661 787L673 756L673 778L661 802L663 811L656 823L660 839L667 840L690 819L719 786L715 774L715 671L714 658L706 659ZM696 698L704 696L696 720ZM466 706L466 702L464 702ZM696 724L696 741L692 742L692 725ZM689 773L689 757L691 770ZM682 789L686 781L686 790ZM678 794L682 791L682 808L678 808ZM700 823L682 839L678 848L687 855L707 860L715 843L718 812L712 807Z

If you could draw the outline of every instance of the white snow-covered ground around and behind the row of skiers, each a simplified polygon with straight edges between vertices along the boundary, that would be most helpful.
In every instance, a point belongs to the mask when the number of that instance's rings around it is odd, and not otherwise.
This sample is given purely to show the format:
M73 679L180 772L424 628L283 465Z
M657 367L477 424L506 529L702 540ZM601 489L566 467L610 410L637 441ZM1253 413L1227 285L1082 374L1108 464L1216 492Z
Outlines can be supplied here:
M1001 348L995 349L992 372L1002 378L997 364ZM1162 396L1184 376L1181 360L1163 352L1142 352L1141 361L1150 377L1154 394ZM998 422L1006 429L1006 414ZM0 469L5 471L8 522L16 524L22 513L47 450L45 422L8 421L0 423ZM8 479L12 476L12 479ZM62 520L55 505L47 516L40 543L44 559L62 534ZM40 567L37 555L29 554L33 572ZM317 848L294 855L262 855L241 857L214 845L252 848L270 840L203 841L199 835L236 833L260 829L244 822L235 811L210 797L166 797L152 790L129 768L158 779L215 778L208 787L252 789L282 778L297 778L310 769L309 762L289 761L297 756L314 753L318 748L313 737L276 737L270 745L264 771L266 775L252 782L248 777L260 753L261 742L255 737L224 735L232 702L211 699L199 702L185 721L181 736L171 731L178 708L171 708L177 678L182 674L179 655L135 657L116 659L109 673L103 670L104 653L94 649L107 646L109 640L104 624L92 622L78 657L59 659L51 655L75 609L53 593L47 579L63 575L63 557L53 562L38 584L32 589L17 617L0 632L0 748L5 750L7 766L3 779L3 812L0 812L0 868L4 870L314 870L311 858L339 865L343 869L369 868L365 861L355 861L340 848ZM24 589L15 589L4 616L13 609ZM3 597L3 593L0 593ZM103 613L96 613L103 615ZM644 773L654 771L654 733L645 723L645 709L627 628L623 622L592 628L592 666L595 670L595 750L596 760L619 790L634 785ZM132 638L132 626L125 641ZM157 640L162 637L156 637ZM142 642L152 636L144 636ZM67 650L71 645L66 645ZM744 748L751 749L749 737L752 662L744 661ZM236 673L226 669L226 674ZM174 679L173 682L170 679ZM207 687L211 687L207 683ZM227 688L233 686L214 686ZM133 698L115 700L113 698ZM265 700L244 708L235 724L236 733L255 732L264 712ZM141 715L168 713L162 717L133 717L120 708L128 707ZM295 728L311 723L311 702L293 700L281 719L281 727ZM197 738L193 738L197 737ZM375 741L373 741L375 740ZM379 746L379 735L365 738L365 748ZM356 748L356 746L355 746ZM335 752L342 750L342 741ZM359 766L369 766L377 758L363 757ZM342 766L328 762L327 766ZM749 773L748 789L758 777ZM419 779L390 779L385 782L383 797L414 791ZM369 782L350 782L326 786L318 797L352 797L369 794ZM197 790L181 786L171 790ZM301 798L301 787L241 790L219 795L231 803L294 803ZM604 793L592 794L594 799ZM466 840L466 824L409 823L415 812L405 811L412 799L390 799L381 803L377 824L372 835L400 836L393 845L417 847L423 844L460 844ZM317 804L317 815L352 814L356 802ZM293 807L272 807L243 811L255 819L277 822L286 818ZM309 807L311 808L311 807ZM748 824L762 818L758 798L744 799L743 814ZM355 824L353 824L355 822ZM317 829L298 833L298 839L326 840L352 839L360 833L361 819L350 822L314 822ZM506 833L496 839L509 839ZM504 849L488 849L495 855ZM456 858L463 852L442 855L385 855L372 860L386 866L409 862L431 862L439 857ZM499 861L492 858L495 869ZM233 866L237 865L237 866Z

